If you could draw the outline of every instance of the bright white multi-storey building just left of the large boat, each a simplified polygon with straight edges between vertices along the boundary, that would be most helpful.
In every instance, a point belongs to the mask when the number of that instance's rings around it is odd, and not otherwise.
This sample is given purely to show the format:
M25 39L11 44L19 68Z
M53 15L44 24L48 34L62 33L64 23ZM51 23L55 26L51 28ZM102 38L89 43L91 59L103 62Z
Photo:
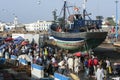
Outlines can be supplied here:
M27 31L48 31L52 21L37 21L30 24L25 24Z

